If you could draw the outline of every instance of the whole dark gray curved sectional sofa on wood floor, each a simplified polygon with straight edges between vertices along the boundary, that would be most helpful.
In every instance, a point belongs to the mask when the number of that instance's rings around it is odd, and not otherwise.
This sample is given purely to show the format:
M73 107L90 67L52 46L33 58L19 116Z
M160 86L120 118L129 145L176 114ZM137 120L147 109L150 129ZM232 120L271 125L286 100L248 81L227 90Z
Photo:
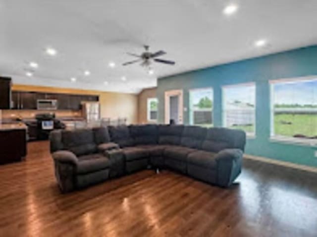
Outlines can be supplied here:
M241 172L246 134L218 127L121 125L55 130L50 143L62 192L148 167L228 187Z

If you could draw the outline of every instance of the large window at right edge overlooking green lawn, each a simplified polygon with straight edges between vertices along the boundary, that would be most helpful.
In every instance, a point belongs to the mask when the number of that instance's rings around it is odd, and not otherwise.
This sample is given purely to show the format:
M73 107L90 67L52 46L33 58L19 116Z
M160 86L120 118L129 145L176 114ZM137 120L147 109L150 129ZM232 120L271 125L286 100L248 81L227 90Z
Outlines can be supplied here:
M317 143L317 79L271 81L271 136Z

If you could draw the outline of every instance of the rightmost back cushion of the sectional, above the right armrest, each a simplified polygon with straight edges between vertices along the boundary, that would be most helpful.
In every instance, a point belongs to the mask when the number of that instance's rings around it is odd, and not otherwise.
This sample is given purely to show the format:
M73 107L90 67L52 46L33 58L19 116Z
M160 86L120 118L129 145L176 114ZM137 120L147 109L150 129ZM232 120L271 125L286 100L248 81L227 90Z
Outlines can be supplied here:
M244 151L246 133L223 127L209 128L202 149L210 152L219 152L227 148L237 148Z

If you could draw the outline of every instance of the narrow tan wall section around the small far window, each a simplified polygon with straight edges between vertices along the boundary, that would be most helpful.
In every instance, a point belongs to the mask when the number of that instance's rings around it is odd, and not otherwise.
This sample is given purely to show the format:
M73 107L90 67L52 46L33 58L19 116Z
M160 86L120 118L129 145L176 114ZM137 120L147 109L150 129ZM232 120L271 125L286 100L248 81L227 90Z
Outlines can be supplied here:
M139 107L139 123L148 123L147 119L147 99L157 97L157 87L144 89L138 95L138 107Z

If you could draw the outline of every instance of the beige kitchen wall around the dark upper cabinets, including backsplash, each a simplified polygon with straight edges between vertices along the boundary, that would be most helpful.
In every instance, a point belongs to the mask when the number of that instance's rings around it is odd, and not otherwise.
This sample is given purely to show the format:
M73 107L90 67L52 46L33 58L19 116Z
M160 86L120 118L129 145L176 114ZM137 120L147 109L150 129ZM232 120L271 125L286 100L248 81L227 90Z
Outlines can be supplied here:
M101 103L102 118L127 118L128 123L138 122L138 95L116 92L102 92L94 90L68 89L46 86L30 86L13 84L12 90L19 91L38 91L65 94L99 95ZM43 112L43 111L41 111ZM2 118L13 118L20 116L22 118L34 117L37 110L2 110ZM62 110L54 112L57 117L75 117L81 116L80 111Z

